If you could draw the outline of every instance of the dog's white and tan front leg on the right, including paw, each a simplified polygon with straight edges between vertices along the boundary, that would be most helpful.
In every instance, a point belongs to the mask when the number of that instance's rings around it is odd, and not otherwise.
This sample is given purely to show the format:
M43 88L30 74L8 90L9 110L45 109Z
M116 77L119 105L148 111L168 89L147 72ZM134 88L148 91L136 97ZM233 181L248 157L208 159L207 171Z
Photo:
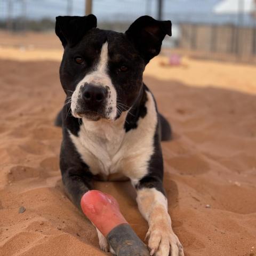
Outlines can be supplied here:
M143 183L142 179L137 187L138 207L149 226L146 237L149 238L150 255L184 256L183 247L172 230L162 182L153 180L154 178ZM161 191L156 188L161 188Z

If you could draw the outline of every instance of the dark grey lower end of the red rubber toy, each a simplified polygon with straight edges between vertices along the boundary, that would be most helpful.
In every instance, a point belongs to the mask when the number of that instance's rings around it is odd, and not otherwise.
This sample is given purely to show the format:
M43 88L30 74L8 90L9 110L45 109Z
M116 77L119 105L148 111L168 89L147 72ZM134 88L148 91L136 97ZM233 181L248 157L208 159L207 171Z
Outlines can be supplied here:
M107 241L117 256L150 256L148 247L129 224L120 224L107 235Z

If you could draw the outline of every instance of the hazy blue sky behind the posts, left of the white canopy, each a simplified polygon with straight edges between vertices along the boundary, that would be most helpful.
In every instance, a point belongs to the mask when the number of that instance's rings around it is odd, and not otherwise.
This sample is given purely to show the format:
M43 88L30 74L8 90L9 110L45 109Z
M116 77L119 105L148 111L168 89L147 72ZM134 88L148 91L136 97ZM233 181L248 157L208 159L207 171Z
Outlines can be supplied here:
M3 9L6 9L8 0L0 0ZM21 11L21 0L14 2L14 13ZM68 0L25 0L27 2L27 15L30 18L55 17L67 14ZM73 2L73 15L84 14L85 0L69 0ZM94 0L93 13L103 18L115 18L115 15L123 17L132 15L156 14L155 0ZM205 13L210 12L219 0L164 0L164 14L168 13ZM148 6L148 7L147 7ZM6 11L6 10L5 10ZM113 16L114 15L114 16Z

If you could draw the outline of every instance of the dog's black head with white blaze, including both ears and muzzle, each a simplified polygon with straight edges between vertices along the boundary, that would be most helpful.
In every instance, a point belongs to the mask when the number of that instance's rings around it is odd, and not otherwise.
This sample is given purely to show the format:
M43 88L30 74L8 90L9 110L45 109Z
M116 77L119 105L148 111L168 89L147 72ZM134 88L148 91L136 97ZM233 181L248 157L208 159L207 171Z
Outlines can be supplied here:
M143 16L123 34L96 28L92 14L57 17L55 32L65 49L60 80L73 116L115 120L129 110L140 95L145 66L165 35L171 36L171 26Z

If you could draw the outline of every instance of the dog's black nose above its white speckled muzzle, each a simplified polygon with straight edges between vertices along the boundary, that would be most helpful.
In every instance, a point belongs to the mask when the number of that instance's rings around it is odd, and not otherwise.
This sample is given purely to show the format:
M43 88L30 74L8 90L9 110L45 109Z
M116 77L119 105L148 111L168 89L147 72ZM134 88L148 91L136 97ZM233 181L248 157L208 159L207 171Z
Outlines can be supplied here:
M84 85L83 98L86 102L101 103L105 100L107 90L102 86L95 86L91 84Z

